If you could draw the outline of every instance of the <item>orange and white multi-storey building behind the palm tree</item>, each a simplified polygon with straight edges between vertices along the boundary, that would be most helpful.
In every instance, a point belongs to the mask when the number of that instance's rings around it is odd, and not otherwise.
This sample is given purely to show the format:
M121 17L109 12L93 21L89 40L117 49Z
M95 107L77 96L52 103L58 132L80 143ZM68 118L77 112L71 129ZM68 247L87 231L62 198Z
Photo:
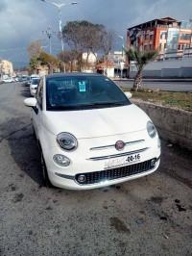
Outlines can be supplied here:
M164 17L136 25L127 30L127 49L131 45L160 54L181 52L192 47L192 22Z

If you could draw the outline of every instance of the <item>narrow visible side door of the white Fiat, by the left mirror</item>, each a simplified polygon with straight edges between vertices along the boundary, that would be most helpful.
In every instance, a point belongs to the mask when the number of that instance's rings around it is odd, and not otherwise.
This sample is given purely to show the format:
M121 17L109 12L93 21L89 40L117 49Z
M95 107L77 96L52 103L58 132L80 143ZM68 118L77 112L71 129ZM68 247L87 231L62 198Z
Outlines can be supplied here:
M42 126L42 103L43 103L43 79L41 78L36 90L36 107L32 108L32 121L36 132L36 139L39 140L39 133Z

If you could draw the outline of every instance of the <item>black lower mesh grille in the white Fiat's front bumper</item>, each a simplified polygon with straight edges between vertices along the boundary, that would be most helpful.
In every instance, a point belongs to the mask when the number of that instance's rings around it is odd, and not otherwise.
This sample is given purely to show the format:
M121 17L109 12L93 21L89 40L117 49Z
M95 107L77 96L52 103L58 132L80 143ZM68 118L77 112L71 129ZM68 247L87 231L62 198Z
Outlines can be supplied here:
M95 184L99 182L132 176L132 175L153 169L155 166L156 166L156 158L142 162L142 163L134 164L132 166L122 166L122 167L117 167L117 168L112 168L107 170L101 170L101 171L79 173L79 174L76 174L75 180L80 185Z

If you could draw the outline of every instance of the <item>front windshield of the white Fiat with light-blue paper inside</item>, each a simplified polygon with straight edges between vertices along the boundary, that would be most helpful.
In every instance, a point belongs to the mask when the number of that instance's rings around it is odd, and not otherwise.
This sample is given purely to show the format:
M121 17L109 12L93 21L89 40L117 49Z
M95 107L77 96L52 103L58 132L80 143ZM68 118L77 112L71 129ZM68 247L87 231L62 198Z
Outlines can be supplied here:
M62 76L46 82L48 110L92 109L132 104L105 76Z

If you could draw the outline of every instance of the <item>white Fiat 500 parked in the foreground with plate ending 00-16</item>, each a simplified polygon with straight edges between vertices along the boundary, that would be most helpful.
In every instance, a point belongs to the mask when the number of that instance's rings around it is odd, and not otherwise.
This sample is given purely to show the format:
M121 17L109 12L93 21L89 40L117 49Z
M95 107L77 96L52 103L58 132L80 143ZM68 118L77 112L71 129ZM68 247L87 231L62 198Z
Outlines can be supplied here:
M126 96L127 95L127 96ZM160 162L156 127L108 77L42 77L32 107L45 185L89 190L148 175Z

